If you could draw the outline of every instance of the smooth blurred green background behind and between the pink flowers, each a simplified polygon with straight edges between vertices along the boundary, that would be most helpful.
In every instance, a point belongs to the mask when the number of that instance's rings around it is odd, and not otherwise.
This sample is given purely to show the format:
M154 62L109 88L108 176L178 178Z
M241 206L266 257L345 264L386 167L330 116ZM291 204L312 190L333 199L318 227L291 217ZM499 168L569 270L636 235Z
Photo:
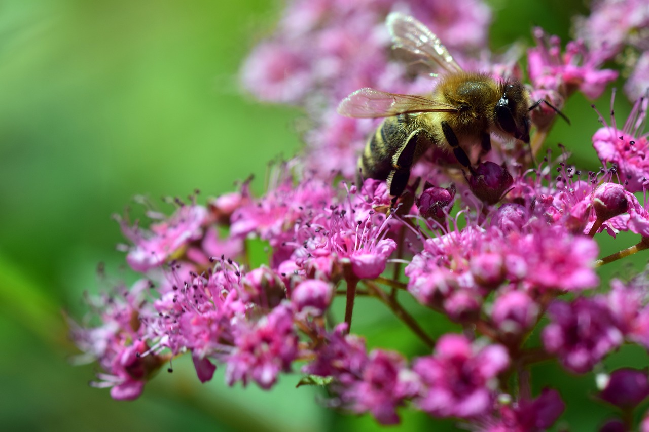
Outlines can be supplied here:
M494 47L529 41L532 25L566 40L570 16L587 12L580 0L491 4ZM296 390L297 376L282 377L272 392L228 389L222 371L201 385L191 361L180 359L173 374L162 372L140 400L125 403L88 387L92 365L68 363L75 351L61 311L81 317L82 293L106 287L96 276L100 262L109 278L128 277L112 213L137 194L163 209L160 197L186 197L194 189L204 200L251 173L260 192L267 162L299 150L299 110L241 95L236 78L281 7L263 0L0 1L3 430L378 429L369 416L321 408L324 395ZM557 124L548 143L575 145L575 162L595 168L589 137L598 124L589 103L570 101L565 112L572 127ZM618 115L626 115L628 103L618 97L618 104ZM606 112L607 105L604 96L598 106ZM603 241L626 247L637 239ZM631 265L644 263L640 257ZM605 270L606 279L626 267ZM361 300L358 307L354 326L370 346L425 354L376 302ZM430 333L443 333L442 320L418 313L428 317ZM637 366L646 354L625 350L610 361ZM572 430L593 430L606 418L609 411L585 397L593 392L592 376L566 379L555 367L538 369L543 378L535 388L548 381L585 401L569 405L565 420ZM424 426L431 426L426 416L405 411L405 429ZM435 428L449 429L450 422Z

